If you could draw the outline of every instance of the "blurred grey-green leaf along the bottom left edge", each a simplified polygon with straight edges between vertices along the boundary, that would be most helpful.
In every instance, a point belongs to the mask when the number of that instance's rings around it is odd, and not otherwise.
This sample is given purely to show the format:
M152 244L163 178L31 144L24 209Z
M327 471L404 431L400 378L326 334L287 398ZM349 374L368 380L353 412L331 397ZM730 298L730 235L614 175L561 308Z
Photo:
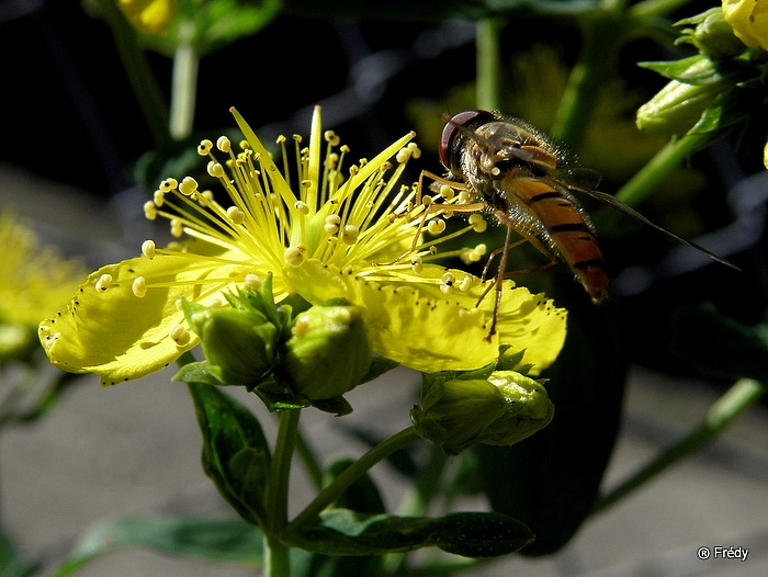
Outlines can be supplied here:
M151 547L163 553L214 563L261 567L262 536L239 519L199 517L121 518L88 531L53 577L71 575L87 563L126 546ZM5 574L0 574L4 575Z

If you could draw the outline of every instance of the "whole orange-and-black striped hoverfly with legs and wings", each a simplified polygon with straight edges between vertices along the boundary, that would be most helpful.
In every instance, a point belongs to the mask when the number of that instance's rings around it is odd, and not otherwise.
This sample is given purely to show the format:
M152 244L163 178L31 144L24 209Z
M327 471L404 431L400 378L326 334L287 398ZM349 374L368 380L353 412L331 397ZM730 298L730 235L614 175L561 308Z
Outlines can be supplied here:
M527 122L485 110L468 110L452 117L445 115L444 120L439 152L448 176L441 178L422 172L419 195L423 177L455 190L466 190L472 202L453 204L450 207L452 212L487 211L507 227L504 246L490 253L482 276L483 281L487 279L490 261L500 254L495 283L482 297L495 286L496 304L488 338L496 332L505 278L535 272L563 260L594 303L600 303L608 296L609 280L602 252L589 216L573 192L585 193L609 204L711 259L737 269L709 250L652 223L618 199L595 190L599 176L587 169L566 166L564 151ZM578 185L576 180L579 178L590 182ZM428 211L430 208L440 210L440 205L433 204L428 206ZM512 242L512 230L522 240ZM550 262L523 271L506 272L509 249L526 241L546 256Z

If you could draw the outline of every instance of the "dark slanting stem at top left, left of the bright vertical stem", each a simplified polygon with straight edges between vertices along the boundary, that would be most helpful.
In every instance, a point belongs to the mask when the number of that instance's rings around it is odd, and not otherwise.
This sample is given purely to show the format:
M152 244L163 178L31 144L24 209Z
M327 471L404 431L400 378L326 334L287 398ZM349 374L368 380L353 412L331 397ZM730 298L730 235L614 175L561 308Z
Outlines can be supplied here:
M136 31L126 22L115 0L99 0L99 8L112 31L117 54L153 136L155 148L161 148L171 140L168 133L168 104L144 52L138 46Z

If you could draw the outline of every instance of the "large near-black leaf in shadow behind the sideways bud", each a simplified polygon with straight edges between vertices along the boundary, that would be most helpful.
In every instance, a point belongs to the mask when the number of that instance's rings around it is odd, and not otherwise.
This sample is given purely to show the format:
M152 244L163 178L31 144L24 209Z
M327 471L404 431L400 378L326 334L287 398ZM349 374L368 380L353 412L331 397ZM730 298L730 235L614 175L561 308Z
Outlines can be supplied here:
M609 324L610 304L596 307L554 283L546 294L568 309L565 346L542 375L550 378L554 418L510 448L472 448L493 510L535 533L521 551L531 556L560 550L588 516L619 430L626 372L621 339Z

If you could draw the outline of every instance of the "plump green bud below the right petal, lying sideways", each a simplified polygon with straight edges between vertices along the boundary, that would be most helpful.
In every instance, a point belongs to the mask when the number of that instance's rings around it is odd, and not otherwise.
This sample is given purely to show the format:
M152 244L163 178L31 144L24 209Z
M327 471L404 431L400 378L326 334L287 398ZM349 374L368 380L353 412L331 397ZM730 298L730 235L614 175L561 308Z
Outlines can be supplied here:
M546 389L515 371L484 380L425 375L421 406L410 411L419 434L449 454L475 443L510 445L552 420Z

